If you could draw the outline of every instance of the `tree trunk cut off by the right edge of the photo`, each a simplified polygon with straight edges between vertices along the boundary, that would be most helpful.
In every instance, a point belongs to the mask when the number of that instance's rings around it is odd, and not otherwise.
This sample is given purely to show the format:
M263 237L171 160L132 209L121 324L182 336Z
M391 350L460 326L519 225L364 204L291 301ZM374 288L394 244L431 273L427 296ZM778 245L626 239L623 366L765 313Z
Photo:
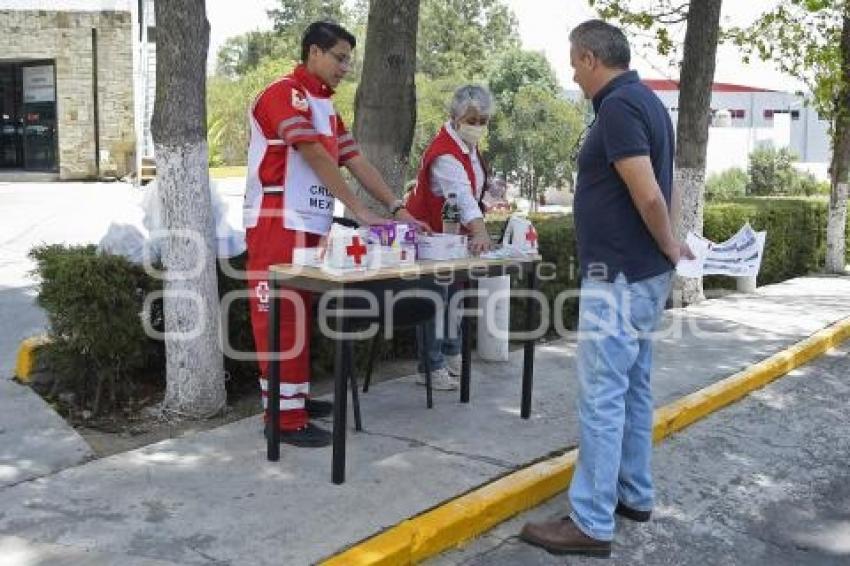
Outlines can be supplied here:
M850 170L850 1L844 2L841 29L841 86L832 133L832 191L826 228L826 271L844 273L847 227L847 182Z

